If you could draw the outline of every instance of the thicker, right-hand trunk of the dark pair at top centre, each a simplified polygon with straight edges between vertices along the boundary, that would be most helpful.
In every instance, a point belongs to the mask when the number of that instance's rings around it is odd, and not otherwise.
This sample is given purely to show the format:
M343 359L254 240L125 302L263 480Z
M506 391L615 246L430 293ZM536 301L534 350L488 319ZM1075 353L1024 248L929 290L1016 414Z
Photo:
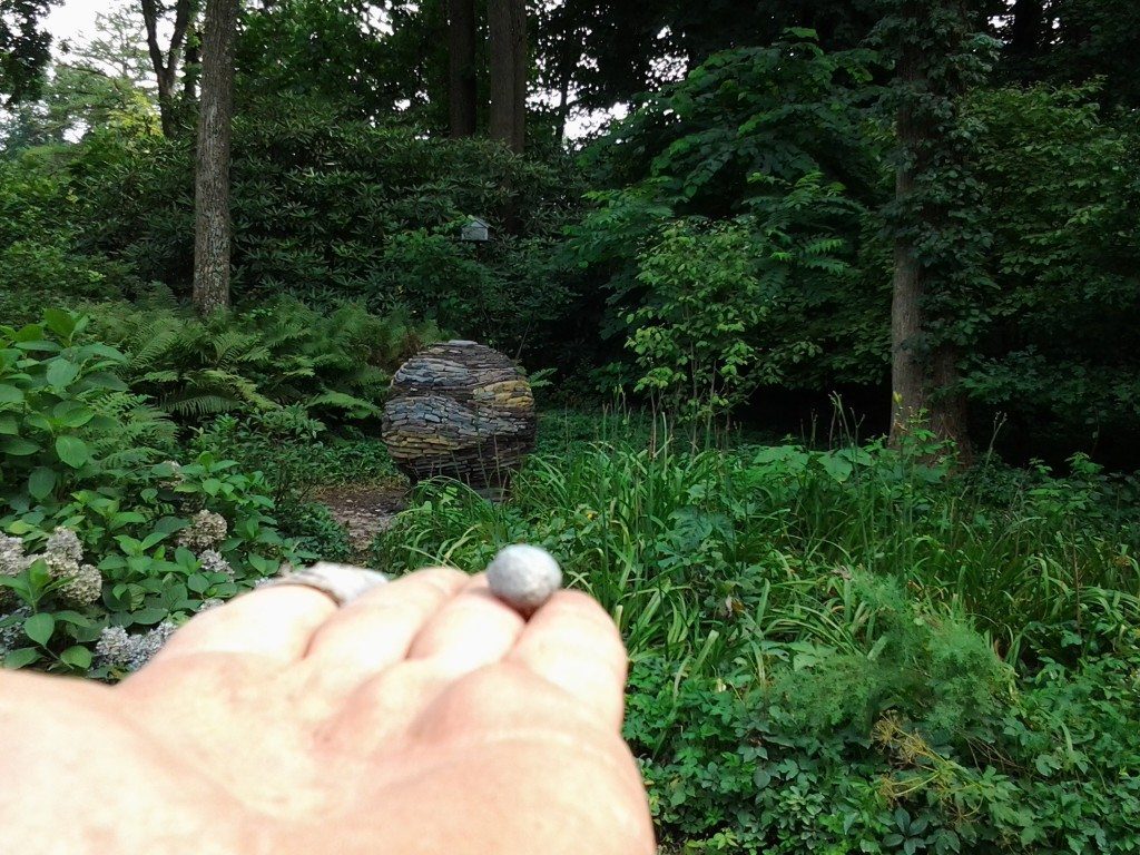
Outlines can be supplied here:
M491 139L522 152L527 138L527 5L488 3L491 50Z

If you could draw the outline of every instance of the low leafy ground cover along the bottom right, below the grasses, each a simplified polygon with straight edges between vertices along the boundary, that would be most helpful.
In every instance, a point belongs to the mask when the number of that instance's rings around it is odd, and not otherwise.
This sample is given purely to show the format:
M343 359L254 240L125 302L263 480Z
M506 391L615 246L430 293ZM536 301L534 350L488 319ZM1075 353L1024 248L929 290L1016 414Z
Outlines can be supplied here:
M764 686L651 657L634 663L625 735L659 834L686 852L1129 853L1135 663L1133 648L1051 665L955 749L891 715L870 733L805 731L822 693L774 702Z

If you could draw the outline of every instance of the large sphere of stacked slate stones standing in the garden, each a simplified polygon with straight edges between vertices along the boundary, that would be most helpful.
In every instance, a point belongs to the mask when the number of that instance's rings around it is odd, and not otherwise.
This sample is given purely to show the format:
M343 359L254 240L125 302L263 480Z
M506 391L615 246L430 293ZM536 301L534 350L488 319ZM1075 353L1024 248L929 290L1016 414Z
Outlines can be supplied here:
M497 489L534 449L535 425L535 397L511 359L483 344L449 341L396 372L383 437L414 482L446 475Z

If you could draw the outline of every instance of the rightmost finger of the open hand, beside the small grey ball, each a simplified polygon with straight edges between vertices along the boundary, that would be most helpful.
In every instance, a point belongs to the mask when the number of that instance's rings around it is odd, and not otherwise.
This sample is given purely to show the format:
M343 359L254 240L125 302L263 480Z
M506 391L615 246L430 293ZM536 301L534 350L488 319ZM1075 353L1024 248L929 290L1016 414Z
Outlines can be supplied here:
M506 661L571 694L606 725L621 726L626 648L595 600L561 591L530 618Z

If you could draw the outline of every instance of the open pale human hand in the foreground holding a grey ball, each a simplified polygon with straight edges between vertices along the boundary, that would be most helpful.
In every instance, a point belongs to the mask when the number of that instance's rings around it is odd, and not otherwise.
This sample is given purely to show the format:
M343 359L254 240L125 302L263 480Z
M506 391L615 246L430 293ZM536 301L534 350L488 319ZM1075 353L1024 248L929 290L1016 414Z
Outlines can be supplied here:
M194 618L115 687L0 677L0 828L38 853L652 853L626 654L560 592L455 570Z

